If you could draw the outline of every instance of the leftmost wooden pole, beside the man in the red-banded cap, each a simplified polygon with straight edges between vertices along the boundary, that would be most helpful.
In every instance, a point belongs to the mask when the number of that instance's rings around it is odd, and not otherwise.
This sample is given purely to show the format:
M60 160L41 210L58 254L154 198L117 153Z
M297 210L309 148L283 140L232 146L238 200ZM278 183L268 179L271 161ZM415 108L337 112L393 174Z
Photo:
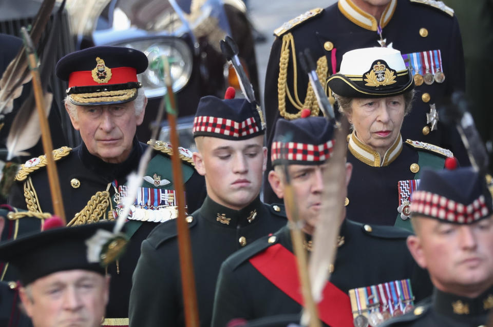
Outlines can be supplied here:
M41 85L40 74L37 69L38 60L36 54L34 53L32 40L26 28L23 27L21 32L23 34L29 68L32 74L32 87L34 91L34 99L36 101L36 110L40 118L41 139L43 141L43 150L46 155L46 169L48 171L53 213L56 216L59 216L64 224L67 224L65 219L65 209L63 207L62 192L60 191L60 180L58 178L58 171L56 171L55 160L53 159L53 144L51 141L48 118L46 117L43 87Z

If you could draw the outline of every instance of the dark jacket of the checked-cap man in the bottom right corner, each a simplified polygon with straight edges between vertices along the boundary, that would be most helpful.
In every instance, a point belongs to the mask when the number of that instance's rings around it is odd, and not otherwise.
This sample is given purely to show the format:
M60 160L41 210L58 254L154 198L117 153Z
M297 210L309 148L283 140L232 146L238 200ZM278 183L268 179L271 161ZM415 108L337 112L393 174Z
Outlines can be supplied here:
M435 289L432 298L420 303L413 312L381 326L481 327L487 324L491 309L493 287L473 299Z

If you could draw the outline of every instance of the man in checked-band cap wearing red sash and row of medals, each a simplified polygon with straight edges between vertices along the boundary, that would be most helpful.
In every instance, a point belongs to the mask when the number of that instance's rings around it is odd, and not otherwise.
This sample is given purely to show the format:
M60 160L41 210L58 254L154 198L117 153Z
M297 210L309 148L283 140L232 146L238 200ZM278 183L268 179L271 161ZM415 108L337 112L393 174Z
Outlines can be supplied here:
M280 198L286 198L287 170L295 201L293 207L298 208L298 218L304 222L302 231L308 252L312 248L311 235L323 214L320 212L323 171L328 165L326 161L330 162L332 134L332 125L323 117L280 119L272 142L274 170L269 172L269 182ZM346 164L346 186L351 169L351 164ZM345 193L346 188L341 192ZM293 219L291 215L288 211L288 220ZM426 272L419 269L406 249L409 232L353 222L345 219L345 211L337 218L341 222L337 256L330 267L331 282L318 306L320 319L326 325L350 326L353 313L354 317L362 316L368 322L365 308L382 295L380 303L390 315L402 314L405 303L412 302L412 292L416 300L431 293ZM388 258L395 260L389 264ZM383 292L385 288L403 295L402 291L406 290L406 296L390 294L389 298ZM285 226L224 261L217 281L212 327L225 326L234 318L252 320L300 313L299 290L290 230ZM364 296L356 299L355 292Z

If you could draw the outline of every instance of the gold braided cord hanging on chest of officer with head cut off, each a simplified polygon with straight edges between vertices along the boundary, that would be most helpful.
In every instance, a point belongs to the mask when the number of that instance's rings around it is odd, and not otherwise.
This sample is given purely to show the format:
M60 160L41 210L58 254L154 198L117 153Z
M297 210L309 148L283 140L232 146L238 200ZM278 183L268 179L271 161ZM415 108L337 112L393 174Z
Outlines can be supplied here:
M292 61L293 61L293 93L294 99L288 89L287 76L288 76L288 65L289 65L289 55L290 48L292 48ZM325 81L327 78L327 72L329 67L327 65L326 56L321 56L317 60L317 75L321 81ZM324 90L327 93L327 84L323 85ZM286 95L288 96L293 107L298 109L298 113L292 114L286 111ZM312 116L318 116L320 110L318 108L317 99L315 93L312 89L310 82L308 82L307 96L305 98L305 103L301 104L298 97L298 72L296 64L296 50L294 46L293 34L288 33L282 36L281 45L281 56L279 59L279 77L277 79L277 97L278 97L278 108L282 117L286 119L299 118L301 115L301 110L308 108L311 111Z

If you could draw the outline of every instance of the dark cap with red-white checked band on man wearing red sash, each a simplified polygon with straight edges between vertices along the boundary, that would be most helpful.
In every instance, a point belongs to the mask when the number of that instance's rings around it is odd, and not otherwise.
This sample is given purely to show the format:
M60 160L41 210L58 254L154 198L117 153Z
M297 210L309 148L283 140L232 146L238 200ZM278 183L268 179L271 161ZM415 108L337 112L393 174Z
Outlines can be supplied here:
M324 117L279 119L272 139L272 165L320 165L330 158L334 128Z

